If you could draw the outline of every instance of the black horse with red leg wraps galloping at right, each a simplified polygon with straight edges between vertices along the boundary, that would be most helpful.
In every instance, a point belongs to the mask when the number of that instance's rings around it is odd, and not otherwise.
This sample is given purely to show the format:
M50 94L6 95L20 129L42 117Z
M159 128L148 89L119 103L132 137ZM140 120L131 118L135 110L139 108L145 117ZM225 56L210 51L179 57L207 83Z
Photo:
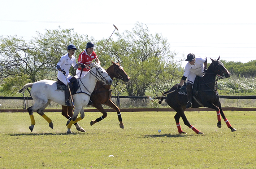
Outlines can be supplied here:
M203 77L199 77L199 80L195 80L195 84L193 88L196 87L196 94L193 94L192 99L192 108L198 108L198 107L208 107L216 110L217 112L217 126L218 128L221 128L221 116L224 119L227 127L231 129L231 132L237 131L235 128L231 126L229 121L227 120L226 116L224 115L221 103L219 101L219 94L217 89L215 89L215 83L217 80L223 79L224 77L228 78L230 77L230 72L224 67L224 64L219 61L220 57L218 57L217 60L212 60L212 63L209 65L207 72L204 74ZM216 79L216 75L220 75ZM174 85L168 92L165 92L159 101L159 104L161 104L162 100L164 99L164 95L166 96L166 103L172 107L177 113L174 116L178 132L181 134L186 134L186 132L183 132L181 129L181 125L179 123L180 117L182 118L185 125L187 125L189 128L191 128L196 134L204 134L200 132L198 129L196 129L194 126L190 124L190 122L187 120L187 117L184 114L184 111L186 109L187 104L187 96L181 91L177 90L178 84ZM183 85L185 86L185 85ZM195 90L194 90L195 91ZM169 93L169 94L168 94ZM194 92L193 92L194 93Z

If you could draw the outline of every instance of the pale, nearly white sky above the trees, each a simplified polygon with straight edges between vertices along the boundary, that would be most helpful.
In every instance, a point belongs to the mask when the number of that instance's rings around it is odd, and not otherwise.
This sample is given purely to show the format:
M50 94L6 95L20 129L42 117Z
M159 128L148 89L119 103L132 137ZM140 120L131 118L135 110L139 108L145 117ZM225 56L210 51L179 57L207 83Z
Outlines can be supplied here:
M194 53L208 63L219 56L246 63L256 60L255 16L251 0L1 0L0 36L30 41L60 26L101 40L113 24L122 34L139 22L168 40L174 59Z

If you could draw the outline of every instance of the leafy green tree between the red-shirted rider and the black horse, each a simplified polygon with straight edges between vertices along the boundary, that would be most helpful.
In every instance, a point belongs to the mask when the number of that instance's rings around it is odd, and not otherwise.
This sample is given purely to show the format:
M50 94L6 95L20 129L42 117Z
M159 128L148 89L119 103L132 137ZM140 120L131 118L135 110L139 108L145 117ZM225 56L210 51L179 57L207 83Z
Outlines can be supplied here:
M103 52L103 55L121 61L131 77L130 82L126 83L128 95L142 96L149 88L155 87L161 88L161 91L157 89L152 90L153 92L162 92L162 86L170 86L169 79L177 78L177 75L172 75L178 72L180 65L173 61L175 53L170 52L166 38L159 34L149 34L148 27L141 23L136 23L131 32L116 35L118 40L110 40L111 45L105 47L107 52ZM164 77L168 80L164 81ZM160 78L162 84L159 84Z

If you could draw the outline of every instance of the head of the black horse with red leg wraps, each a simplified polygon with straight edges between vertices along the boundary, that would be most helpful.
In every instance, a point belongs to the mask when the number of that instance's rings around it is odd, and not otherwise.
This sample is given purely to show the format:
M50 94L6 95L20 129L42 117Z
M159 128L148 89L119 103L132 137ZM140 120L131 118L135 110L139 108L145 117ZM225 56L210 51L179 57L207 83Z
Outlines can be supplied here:
M225 76L226 78L230 77L230 72L225 68L224 64L221 61L219 61L220 57L218 57L217 60L213 60L212 58L211 58L211 60L212 60L212 63L210 66L211 66L214 74ZM209 68L210 68L210 66L209 66ZM208 70L209 70L209 68L208 68Z

